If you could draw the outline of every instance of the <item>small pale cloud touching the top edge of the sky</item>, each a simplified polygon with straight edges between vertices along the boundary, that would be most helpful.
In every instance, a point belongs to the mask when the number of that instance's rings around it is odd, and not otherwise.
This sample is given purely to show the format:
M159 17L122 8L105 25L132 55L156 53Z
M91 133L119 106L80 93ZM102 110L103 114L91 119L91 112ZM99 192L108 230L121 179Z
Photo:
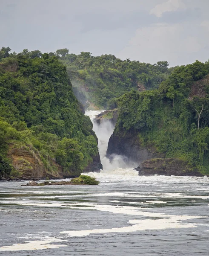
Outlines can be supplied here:
M167 2L156 5L149 13L157 17L162 17L164 12L173 12L179 9L186 9L186 5L182 0L168 0Z

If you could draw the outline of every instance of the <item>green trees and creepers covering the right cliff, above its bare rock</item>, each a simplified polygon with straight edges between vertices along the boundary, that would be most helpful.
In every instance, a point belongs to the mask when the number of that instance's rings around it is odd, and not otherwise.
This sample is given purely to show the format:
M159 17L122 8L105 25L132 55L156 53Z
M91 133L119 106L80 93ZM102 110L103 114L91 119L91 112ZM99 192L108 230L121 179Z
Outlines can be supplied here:
M126 136L137 131L141 145L152 145L166 157L181 158L191 169L209 174L208 72L208 62L196 61L176 68L159 89L125 93L118 99L114 132Z

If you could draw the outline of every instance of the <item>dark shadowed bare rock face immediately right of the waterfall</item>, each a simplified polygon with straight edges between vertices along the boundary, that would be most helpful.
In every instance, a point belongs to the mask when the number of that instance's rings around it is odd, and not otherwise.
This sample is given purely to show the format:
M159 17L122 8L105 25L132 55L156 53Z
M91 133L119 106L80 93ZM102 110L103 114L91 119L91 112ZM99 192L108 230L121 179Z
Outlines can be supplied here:
M155 148L142 146L136 132L128 132L125 135L117 135L114 132L109 139L107 157L111 154L124 155L138 164L150 158L164 157L163 154L157 153Z

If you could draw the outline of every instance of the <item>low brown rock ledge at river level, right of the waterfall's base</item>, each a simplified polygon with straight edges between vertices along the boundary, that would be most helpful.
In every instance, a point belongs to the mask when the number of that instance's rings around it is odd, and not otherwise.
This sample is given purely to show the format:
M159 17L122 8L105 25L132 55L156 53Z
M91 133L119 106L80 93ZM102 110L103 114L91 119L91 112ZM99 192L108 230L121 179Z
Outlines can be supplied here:
M154 158L143 161L136 170L139 175L176 175L176 176L203 176L199 172L189 170L187 162L177 158Z

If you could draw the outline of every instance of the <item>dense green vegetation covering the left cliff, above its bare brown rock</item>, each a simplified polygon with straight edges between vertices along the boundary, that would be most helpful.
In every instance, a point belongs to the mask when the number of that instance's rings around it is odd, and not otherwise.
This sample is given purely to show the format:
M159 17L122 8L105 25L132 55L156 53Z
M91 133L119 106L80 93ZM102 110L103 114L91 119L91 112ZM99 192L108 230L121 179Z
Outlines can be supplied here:
M0 50L0 176L13 170L7 153L24 148L47 173L80 174L98 154L92 122L72 91L66 67L40 51Z

